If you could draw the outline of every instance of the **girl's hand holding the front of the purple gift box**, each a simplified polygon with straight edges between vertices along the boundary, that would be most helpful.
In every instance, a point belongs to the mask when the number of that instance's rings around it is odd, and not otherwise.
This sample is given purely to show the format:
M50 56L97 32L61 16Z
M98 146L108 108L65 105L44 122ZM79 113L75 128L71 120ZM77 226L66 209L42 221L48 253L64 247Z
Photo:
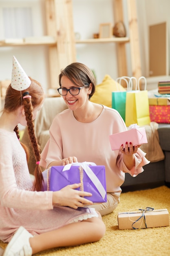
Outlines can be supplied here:
M74 209L77 209L78 207L84 207L84 205L93 204L92 201L83 198L84 196L91 196L91 193L75 190L79 188L80 185L80 183L68 185L59 191L53 192L53 204L69 206Z

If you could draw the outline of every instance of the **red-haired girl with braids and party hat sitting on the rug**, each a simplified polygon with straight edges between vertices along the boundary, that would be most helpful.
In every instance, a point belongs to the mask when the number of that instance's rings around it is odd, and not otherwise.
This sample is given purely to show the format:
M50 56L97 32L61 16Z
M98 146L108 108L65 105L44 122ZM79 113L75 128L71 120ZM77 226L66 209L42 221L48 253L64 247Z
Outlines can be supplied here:
M105 233L99 213L83 207L92 204L83 198L90 199L91 193L75 190L80 184L56 192L41 191L43 178L33 119L43 100L41 85L26 76L13 57L11 85L0 117L0 239L9 242L3 256L31 256L52 247L95 242ZM19 141L18 124L28 126L37 161L34 181L27 166L28 152Z

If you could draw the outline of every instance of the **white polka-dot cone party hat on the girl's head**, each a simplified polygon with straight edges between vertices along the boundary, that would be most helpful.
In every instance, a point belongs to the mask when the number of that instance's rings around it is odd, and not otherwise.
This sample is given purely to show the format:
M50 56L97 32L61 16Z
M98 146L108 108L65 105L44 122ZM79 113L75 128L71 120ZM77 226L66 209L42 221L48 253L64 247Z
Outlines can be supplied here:
M17 91L22 91L29 88L30 84L31 80L29 79L15 56L13 56L11 87Z

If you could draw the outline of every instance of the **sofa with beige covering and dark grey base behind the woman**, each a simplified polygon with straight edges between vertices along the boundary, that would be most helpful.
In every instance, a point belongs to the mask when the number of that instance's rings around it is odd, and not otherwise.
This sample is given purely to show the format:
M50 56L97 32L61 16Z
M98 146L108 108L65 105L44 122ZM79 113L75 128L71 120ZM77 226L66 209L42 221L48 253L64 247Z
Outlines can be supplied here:
M38 113L35 121L35 133L38 139L38 144L41 150L44 148L47 140L49 139L49 128L55 115L67 108L62 97L51 97L46 98L42 109ZM159 144L158 136L158 124L151 122L150 125L145 126L148 144L143 144L141 149L146 152L146 157L151 161L150 164L144 166L144 172L137 177L131 177L126 173L125 182L122 185L122 189L125 191L134 189L143 189L158 184L163 184L165 181L165 170L164 170L164 154ZM29 160L29 171L31 174L35 170L35 158L32 150L32 146L29 140L27 128L24 131L24 135L21 141L29 146L30 149L30 160ZM150 184L151 183L151 184ZM155 185L156 184L156 185Z

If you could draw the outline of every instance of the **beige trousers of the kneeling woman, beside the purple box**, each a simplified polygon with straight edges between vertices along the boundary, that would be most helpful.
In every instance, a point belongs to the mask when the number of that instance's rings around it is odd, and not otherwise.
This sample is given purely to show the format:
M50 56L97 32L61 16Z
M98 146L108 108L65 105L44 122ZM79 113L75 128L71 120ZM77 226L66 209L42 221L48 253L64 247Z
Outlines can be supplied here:
M109 214L113 212L120 201L120 193L113 192L113 193L107 193L107 202L101 203L101 204L93 204L88 207L93 207L96 209L96 211L99 211L99 213L104 216L106 214Z

